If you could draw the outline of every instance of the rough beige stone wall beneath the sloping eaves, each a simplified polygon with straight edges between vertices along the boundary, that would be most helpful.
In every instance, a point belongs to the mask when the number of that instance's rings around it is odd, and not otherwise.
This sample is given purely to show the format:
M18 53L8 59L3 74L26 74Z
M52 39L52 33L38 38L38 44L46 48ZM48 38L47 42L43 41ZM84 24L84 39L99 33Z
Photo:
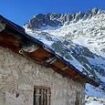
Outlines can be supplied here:
M33 105L34 86L51 88L51 105L75 105L77 92L84 99L84 84L0 47L0 105Z

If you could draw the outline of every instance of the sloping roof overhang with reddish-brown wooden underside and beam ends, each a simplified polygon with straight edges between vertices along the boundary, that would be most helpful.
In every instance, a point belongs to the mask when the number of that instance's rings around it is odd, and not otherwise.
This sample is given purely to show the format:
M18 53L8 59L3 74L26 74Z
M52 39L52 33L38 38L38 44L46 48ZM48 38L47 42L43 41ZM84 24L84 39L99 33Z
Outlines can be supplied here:
M64 59L56 56L54 52L46 49L43 43L27 35L24 29L2 17L3 30L0 32L0 46L9 48L13 52L22 56L32 58L36 63L52 68L54 71L82 83L90 83L99 86L99 83L83 75L72 65L69 65ZM20 29L20 31L19 31Z

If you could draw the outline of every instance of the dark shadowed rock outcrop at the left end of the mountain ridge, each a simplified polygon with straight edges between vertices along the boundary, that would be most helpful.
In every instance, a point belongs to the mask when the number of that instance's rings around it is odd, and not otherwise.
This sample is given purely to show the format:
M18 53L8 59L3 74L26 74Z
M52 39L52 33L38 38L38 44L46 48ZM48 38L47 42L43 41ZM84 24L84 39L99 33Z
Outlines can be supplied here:
M32 18L28 24L28 28L39 29L47 25L56 27L58 25L62 26L62 23L54 18L57 18L57 14L39 14Z

